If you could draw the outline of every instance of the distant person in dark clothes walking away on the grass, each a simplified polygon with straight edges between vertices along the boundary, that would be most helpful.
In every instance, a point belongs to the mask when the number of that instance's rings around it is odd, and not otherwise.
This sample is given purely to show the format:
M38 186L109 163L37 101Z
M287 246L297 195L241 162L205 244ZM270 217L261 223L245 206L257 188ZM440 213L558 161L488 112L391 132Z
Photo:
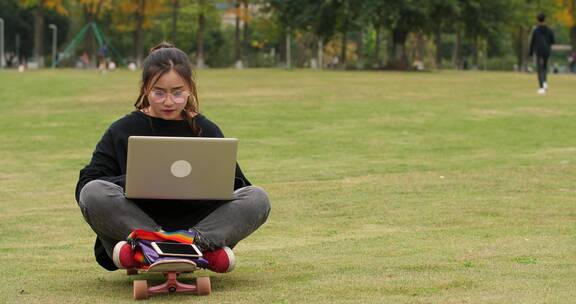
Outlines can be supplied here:
M538 94L546 94L548 91L548 82L546 73L548 72L548 59L550 58L550 49L554 44L554 33L546 26L546 15L538 14L536 17L538 24L532 30L530 39L530 56L536 58L536 70L538 72L538 83L540 88Z

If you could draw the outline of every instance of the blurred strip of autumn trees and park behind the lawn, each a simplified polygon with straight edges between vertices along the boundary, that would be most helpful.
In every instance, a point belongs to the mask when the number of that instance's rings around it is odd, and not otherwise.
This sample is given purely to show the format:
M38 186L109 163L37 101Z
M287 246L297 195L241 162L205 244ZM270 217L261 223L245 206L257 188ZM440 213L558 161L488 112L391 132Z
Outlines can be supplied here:
M0 0L4 68L137 68L160 41L196 68L533 69L576 72L576 0Z

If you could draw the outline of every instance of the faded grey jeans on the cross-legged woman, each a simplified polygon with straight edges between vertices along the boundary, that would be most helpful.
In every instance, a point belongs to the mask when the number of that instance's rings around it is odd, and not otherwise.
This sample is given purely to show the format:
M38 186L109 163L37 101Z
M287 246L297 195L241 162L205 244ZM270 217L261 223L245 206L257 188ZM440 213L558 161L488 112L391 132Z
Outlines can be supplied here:
M208 247L205 249L234 247L264 224L270 213L268 195L255 186L234 191L230 201L214 203L218 205L213 211L187 227L200 235ZM126 240L132 230L158 231L163 228L134 201L127 199L122 187L107 181L87 183L80 191L79 206L110 257L114 245Z

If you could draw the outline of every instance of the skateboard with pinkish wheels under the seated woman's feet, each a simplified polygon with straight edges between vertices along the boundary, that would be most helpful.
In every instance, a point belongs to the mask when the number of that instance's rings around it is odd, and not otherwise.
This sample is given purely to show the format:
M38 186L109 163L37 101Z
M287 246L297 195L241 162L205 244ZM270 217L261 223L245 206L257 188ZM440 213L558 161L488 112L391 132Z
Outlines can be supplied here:
M144 300L153 295L175 292L195 293L200 296L209 295L212 291L209 277L197 277L195 284L184 284L178 281L179 274L194 272L197 269L196 264L190 260L175 259L158 261L148 268L128 269L126 272L128 275L160 272L166 277L166 282L163 284L150 287L146 280L134 280L134 300Z

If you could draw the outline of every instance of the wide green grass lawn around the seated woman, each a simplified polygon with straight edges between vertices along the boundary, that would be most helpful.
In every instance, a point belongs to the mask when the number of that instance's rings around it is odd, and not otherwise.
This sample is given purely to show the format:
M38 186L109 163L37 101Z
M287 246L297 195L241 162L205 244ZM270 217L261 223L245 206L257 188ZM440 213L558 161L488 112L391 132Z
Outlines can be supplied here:
M95 263L74 187L138 76L0 72L0 302L133 302L134 278ZM575 301L575 76L546 96L514 73L197 78L272 213L234 272L205 272L210 297L151 303Z

